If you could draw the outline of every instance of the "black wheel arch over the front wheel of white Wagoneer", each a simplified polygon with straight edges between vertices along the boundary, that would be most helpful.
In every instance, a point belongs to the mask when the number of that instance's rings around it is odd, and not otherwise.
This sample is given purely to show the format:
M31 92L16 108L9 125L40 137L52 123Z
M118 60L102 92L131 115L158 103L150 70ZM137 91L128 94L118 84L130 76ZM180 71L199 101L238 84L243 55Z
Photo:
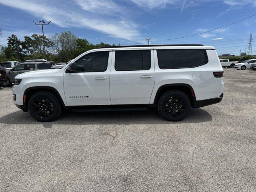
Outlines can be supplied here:
M35 87L30 87L27 88L24 92L24 96L23 96L23 105L26 107L26 109L28 108L28 100L30 99L30 97L35 94L36 92L50 92L52 94L54 94L59 100L60 103L63 107L65 107L64 101L62 99L62 97L60 96L60 93L58 92L58 90L56 90L53 87L50 86L35 86Z

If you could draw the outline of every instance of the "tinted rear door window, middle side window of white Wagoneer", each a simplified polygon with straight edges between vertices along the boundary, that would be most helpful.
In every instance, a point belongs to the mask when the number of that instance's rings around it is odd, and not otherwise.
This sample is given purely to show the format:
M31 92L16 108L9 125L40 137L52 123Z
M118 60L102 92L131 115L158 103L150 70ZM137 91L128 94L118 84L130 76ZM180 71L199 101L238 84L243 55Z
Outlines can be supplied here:
M116 51L116 71L150 69L150 50Z

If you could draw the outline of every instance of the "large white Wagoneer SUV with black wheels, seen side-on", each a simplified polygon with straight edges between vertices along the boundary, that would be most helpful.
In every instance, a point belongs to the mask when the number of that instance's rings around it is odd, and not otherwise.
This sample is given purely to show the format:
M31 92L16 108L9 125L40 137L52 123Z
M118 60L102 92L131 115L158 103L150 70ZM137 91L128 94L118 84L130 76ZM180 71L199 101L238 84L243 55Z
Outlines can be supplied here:
M81 54L62 69L15 77L14 104L38 121L62 109L131 110L157 107L166 120L218 103L223 69L216 50L202 45L120 46Z

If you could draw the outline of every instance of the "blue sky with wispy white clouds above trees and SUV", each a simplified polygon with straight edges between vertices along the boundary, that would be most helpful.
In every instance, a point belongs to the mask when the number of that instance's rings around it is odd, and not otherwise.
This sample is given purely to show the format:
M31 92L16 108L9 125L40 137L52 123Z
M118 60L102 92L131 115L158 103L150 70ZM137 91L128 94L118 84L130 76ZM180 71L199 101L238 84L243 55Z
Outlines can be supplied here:
M0 0L0 43L16 34L41 34L32 20L51 21L46 36L70 30L94 44L205 44L218 54L245 52L256 38L256 16L214 32L205 32L256 14L256 0ZM256 54L256 44L253 44Z

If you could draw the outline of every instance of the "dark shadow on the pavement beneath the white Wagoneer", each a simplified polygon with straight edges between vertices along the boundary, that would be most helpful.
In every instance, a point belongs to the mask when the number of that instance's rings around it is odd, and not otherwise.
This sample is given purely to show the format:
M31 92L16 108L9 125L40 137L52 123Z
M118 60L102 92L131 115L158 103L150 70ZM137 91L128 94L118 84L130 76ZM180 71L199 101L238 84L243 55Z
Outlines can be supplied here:
M164 120L154 109L118 112L73 112L66 110L53 122L38 122L29 113L21 110L0 118L0 123L4 124L42 124L45 128L51 128L53 124L184 124L209 121L212 121L212 116L200 108L191 109L190 114L179 122Z

